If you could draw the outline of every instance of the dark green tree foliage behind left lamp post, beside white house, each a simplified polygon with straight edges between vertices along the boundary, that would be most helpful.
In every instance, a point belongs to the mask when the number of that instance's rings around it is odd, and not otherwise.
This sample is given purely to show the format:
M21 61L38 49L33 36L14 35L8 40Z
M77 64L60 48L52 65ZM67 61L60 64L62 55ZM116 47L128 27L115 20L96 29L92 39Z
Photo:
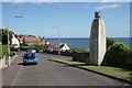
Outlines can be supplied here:
M12 38L13 32L9 31L9 40L10 40L10 44L11 44L11 38ZM2 44L8 44L8 30L7 29L2 29Z

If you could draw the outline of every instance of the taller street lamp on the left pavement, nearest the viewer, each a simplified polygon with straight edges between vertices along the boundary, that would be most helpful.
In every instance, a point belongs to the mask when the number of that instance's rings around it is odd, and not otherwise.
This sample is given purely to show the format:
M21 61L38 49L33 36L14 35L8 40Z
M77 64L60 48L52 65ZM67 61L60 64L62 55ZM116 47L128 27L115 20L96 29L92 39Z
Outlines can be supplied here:
M13 18L23 18L21 15L14 15ZM10 66L10 46L9 46L9 14L7 15L7 29L8 29L8 56L9 56L9 66Z

